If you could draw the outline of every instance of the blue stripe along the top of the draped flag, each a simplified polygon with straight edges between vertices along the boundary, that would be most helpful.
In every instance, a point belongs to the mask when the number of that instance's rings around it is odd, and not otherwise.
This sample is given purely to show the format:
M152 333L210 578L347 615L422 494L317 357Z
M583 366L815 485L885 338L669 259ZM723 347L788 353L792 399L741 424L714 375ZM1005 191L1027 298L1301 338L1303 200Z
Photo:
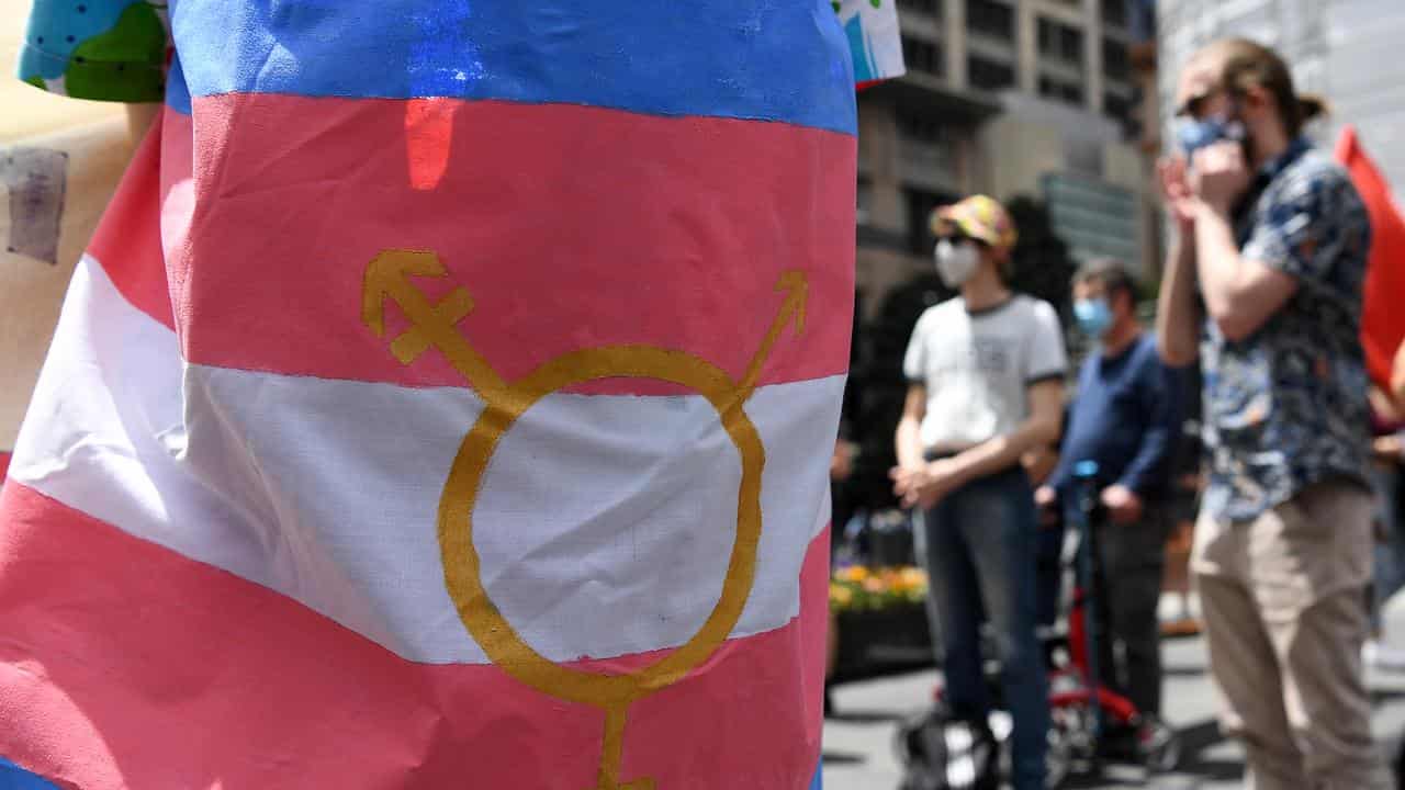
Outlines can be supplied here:
M447 96L856 131L829 0L181 0L195 97Z

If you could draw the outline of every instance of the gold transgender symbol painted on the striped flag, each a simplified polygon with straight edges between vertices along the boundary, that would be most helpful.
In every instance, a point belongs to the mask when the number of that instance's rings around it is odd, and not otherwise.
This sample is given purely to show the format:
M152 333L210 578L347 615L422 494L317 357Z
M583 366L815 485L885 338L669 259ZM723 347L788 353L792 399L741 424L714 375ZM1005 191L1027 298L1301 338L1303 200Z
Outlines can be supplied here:
M732 633L752 593L756 547L762 537L766 450L742 405L756 389L762 365L787 325L794 323L797 335L805 328L809 290L805 274L787 271L781 276L776 285L784 292L780 312L740 381L698 356L643 344L569 351L517 381L504 381L455 328L473 311L468 291L455 288L436 304L410 281L410 277L447 276L433 252L384 250L365 268L361 320L384 337L385 301L393 301L410 322L410 328L391 342L395 358L407 365L430 347L438 349L485 401L482 415L459 444L440 498L438 540L450 597L468 633L507 675L544 694L604 711L603 755L592 790L653 790L652 779L621 784L625 714L635 700L677 683L707 661ZM473 547L473 509L497 441L527 409L559 389L615 377L669 381L705 396L740 454L742 482L736 493L736 541L722 595L707 621L683 647L658 662L629 673L606 675L552 663L517 634L483 588Z

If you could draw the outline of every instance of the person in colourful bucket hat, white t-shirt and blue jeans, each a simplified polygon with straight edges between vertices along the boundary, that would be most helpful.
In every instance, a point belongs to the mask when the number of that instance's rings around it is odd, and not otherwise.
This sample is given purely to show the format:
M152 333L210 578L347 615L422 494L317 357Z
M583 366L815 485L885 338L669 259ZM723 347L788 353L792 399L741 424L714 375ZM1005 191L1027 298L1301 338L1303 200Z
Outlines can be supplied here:
M984 725L981 613L996 633L1014 720L1016 790L1044 787L1050 708L1035 635L1037 512L1020 457L1058 440L1065 354L1058 313L1010 291L1017 238L1005 208L969 197L932 215L937 273L960 295L929 308L903 363L894 491L922 516L929 617L951 711Z

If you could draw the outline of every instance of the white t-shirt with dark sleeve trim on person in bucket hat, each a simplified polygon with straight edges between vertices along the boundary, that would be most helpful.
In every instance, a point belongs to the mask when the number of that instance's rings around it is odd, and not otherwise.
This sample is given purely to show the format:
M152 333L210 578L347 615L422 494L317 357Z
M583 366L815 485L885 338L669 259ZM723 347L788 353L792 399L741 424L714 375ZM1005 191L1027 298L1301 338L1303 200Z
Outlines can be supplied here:
M964 450L1012 433L1030 412L1027 389L1064 378L1064 330L1048 302L1024 295L971 312L957 297L927 308L903 373L927 388L926 450Z

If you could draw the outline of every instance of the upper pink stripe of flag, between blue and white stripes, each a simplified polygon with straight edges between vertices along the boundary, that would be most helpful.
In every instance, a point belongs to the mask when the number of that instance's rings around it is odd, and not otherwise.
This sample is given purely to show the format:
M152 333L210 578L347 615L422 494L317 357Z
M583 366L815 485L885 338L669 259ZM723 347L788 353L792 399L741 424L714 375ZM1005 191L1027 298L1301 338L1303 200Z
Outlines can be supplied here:
M361 325L368 261L403 247L440 254L450 277L416 284L433 298L451 285L471 294L458 328L507 380L617 343L686 350L740 378L792 268L808 277L809 320L776 347L760 382L846 370L854 138L776 122L455 103L444 110L447 164L423 188L407 155L407 111L396 100L223 94L197 98L192 119L167 114L167 146L173 135L194 139L192 190L181 191L181 173L163 176L171 294L190 361L462 385L438 353L402 365ZM396 308L386 312L400 320ZM608 385L641 387L652 389Z

